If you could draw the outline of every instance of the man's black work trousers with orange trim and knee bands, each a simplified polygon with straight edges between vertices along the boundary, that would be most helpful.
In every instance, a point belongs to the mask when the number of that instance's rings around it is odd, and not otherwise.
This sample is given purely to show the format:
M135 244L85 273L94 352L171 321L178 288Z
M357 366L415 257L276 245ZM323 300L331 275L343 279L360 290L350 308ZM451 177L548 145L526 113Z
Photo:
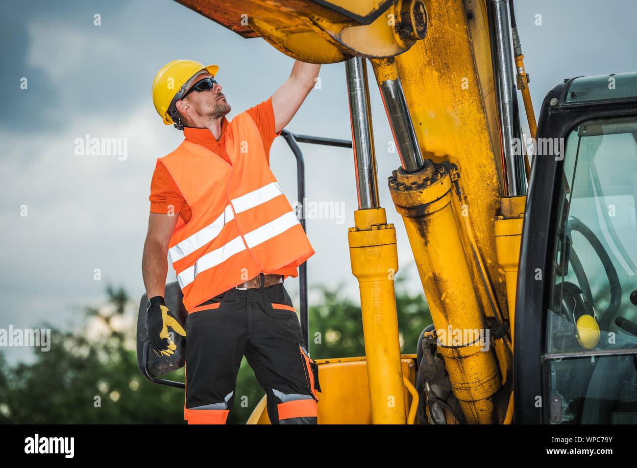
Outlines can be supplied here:
M225 423L243 355L266 391L273 424L317 423L317 366L283 283L231 288L197 306L185 330L184 416L190 424Z

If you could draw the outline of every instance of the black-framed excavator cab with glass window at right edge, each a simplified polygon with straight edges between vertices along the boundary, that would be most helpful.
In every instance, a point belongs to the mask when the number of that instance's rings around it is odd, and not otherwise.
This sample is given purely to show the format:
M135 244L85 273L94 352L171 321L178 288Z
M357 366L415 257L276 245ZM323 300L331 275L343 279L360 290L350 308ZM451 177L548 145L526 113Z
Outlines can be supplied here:
M535 143L516 421L637 423L637 73L554 87Z

